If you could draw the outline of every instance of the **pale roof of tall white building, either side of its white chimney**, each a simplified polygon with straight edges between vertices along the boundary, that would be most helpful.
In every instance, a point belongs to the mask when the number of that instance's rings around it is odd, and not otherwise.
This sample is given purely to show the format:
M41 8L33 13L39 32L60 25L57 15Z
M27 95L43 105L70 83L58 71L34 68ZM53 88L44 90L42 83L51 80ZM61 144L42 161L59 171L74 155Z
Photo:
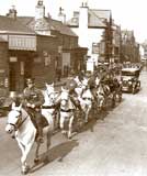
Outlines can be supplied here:
M76 16L71 18L67 24L70 26L79 26L79 13L76 13ZM88 9L89 28L106 28L105 20L110 21L111 11L110 10L99 10L99 9Z

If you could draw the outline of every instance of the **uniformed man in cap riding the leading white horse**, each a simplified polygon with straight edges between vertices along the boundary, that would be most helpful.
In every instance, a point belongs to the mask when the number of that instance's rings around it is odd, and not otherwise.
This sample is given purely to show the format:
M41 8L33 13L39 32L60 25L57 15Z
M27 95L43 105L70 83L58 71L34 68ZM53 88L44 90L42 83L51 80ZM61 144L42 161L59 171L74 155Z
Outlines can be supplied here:
M26 79L27 87L24 89L25 107L35 120L35 124L38 131L37 141L43 143L43 128L42 128L42 114L41 106L44 103L44 97L42 91L35 87L34 79Z

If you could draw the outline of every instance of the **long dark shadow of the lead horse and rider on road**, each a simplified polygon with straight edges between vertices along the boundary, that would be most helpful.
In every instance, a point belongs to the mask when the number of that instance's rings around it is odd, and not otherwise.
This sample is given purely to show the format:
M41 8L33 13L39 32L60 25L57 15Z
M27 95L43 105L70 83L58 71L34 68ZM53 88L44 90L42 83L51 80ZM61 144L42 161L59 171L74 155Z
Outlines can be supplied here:
M30 173L34 173L41 169L47 164L54 162L55 160L58 160L58 162L64 162L64 158L78 145L79 143L77 142L77 140L72 140L54 146L48 151L48 153L43 153L39 156L39 162L37 164L34 164Z

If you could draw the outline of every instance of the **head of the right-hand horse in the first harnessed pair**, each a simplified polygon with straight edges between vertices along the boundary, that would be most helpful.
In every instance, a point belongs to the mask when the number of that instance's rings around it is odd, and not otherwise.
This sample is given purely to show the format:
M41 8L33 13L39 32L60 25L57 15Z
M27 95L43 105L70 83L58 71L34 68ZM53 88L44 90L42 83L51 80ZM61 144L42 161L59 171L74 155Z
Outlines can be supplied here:
M69 90L61 87L60 103L66 106L69 100Z

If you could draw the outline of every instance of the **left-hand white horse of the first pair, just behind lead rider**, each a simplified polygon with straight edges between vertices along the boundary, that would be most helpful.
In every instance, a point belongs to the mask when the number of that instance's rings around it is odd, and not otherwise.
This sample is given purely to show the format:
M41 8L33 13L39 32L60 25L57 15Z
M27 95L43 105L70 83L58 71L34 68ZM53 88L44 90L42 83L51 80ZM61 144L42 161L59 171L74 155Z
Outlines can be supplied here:
M48 121L52 130L55 130L55 124L58 120L56 119L56 114L55 114L55 100L58 96L58 92L55 91L54 88L54 84L48 85L45 84L46 86L46 90L43 91L44 95L44 105L42 106L42 114L46 118L46 120Z

